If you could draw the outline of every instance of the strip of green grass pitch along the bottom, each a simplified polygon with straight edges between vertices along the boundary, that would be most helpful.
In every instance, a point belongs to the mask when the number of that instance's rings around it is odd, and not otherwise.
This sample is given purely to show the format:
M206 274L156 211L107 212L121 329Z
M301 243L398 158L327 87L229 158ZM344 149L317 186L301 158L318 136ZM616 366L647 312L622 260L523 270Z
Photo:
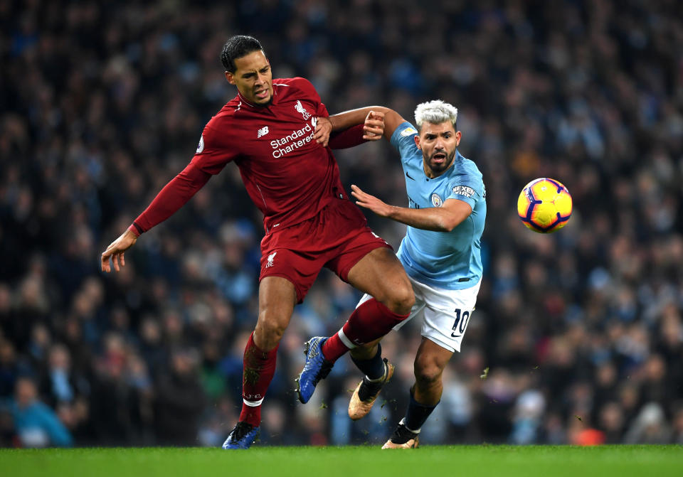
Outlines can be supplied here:
M683 446L0 449L2 476L683 476Z

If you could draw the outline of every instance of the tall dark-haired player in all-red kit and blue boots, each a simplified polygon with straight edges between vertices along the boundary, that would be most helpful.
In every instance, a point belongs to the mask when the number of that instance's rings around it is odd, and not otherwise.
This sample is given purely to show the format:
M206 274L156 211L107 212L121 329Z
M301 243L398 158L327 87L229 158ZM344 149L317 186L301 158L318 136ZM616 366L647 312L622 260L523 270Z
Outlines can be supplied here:
M184 171L102 253L102 270L111 271L111 259L118 271L125 264L124 252L140 234L169 218L211 175L235 161L250 198L263 212L265 228L258 321L244 350L242 412L223 444L224 449L247 449L259 432L261 403L275 373L282 333L322 267L374 296L344 325L350 343L369 343L388 333L407 318L415 298L391 247L367 227L349 200L330 149L381 139L383 122L368 117L365 124L349 124L352 115L344 113L330 118L309 81L272 79L255 38L233 36L221 60L237 96L206 124ZM307 345L308 358L317 363L314 382L348 350L335 337ZM299 394L302 402L310 397Z

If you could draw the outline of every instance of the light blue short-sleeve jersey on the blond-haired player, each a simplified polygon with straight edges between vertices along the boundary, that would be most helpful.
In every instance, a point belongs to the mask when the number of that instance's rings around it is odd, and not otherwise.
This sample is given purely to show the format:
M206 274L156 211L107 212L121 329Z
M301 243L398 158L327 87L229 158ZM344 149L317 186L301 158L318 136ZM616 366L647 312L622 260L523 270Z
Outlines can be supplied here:
M470 217L450 232L408 226L398 248L406 273L428 286L460 290L482 278L481 238L486 218L486 189L482 173L469 159L455 153L445 173L430 179L423 168L422 151L415 145L417 130L404 122L391 135L401 154L410 208L441 207L445 200L463 200L472 207Z

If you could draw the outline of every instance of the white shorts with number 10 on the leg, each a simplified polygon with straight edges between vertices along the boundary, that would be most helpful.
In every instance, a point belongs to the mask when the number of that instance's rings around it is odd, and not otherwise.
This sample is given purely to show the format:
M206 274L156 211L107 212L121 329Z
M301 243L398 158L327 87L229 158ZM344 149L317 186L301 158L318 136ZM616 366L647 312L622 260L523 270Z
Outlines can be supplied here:
M462 337L467 331L472 311L475 311L477 294L482 284L480 280L475 286L463 290L433 288L408 276L415 292L415 304L411 314L394 326L398 330L415 316L422 319L420 334L442 348L451 352L460 352ZM372 296L365 294L356 308Z

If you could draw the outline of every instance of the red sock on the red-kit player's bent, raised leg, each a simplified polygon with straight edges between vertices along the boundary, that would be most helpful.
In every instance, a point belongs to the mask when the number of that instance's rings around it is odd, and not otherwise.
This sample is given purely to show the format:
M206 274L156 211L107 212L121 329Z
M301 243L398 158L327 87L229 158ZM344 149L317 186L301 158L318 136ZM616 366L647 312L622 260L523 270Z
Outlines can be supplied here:
M325 359L334 361L351 348L386 335L391 328L408 318L394 313L374 298L362 303L351 313L342 329L327 338L322 345Z

